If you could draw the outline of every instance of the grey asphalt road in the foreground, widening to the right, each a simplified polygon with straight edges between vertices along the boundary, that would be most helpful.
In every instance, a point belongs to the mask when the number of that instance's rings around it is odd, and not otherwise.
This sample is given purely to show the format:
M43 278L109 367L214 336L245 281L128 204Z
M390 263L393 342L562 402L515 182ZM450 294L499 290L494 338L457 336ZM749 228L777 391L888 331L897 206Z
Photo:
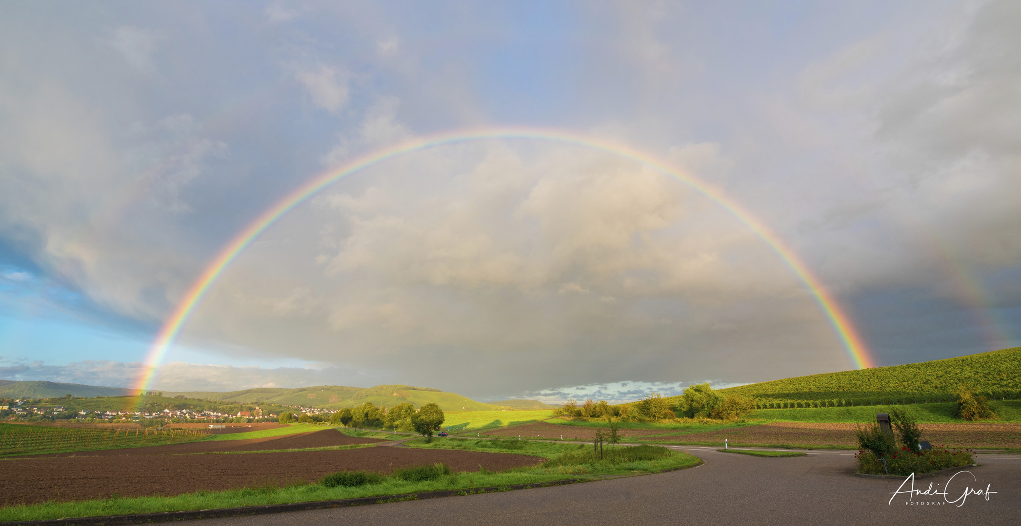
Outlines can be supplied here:
M891 495L901 481L853 476L853 452L815 451L808 457L757 458L677 448L706 460L696 468L639 477L501 493L452 496L288 514L209 519L202 526L446 525L1018 525L1021 456L980 455L975 478L961 473L922 478L915 488L943 495ZM977 480L976 480L977 479ZM988 486L988 499L966 487ZM909 489L905 485L904 490ZM892 503L888 504L891 496Z

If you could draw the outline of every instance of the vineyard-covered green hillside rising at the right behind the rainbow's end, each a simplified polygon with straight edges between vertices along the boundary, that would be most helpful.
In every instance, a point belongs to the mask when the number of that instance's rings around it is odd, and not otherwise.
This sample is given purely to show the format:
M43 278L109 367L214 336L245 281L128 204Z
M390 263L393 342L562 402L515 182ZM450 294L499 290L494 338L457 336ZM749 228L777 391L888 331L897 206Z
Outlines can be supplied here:
M1021 394L1021 347L917 364L797 376L721 389L769 401L938 399L959 385L991 397ZM935 402L935 400L933 400Z

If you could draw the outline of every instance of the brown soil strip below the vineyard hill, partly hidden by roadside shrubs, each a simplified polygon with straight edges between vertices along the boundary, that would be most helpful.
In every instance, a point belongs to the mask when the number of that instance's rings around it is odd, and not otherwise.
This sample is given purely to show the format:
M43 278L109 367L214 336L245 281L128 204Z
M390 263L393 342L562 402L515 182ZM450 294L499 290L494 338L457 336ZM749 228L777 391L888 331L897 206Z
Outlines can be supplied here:
M857 445L856 424L775 422L672 436L640 438L664 442ZM922 439L952 448L1021 448L1021 423L919 424Z

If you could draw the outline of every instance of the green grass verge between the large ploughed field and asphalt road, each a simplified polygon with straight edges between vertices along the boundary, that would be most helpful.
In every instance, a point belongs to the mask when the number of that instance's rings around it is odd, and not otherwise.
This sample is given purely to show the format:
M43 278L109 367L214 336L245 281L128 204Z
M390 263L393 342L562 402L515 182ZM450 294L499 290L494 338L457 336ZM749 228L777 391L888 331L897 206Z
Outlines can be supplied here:
M425 439L419 438L410 442L414 442L414 446L430 449L524 453L550 459L550 463L534 467L514 468L499 473L480 471L446 474L444 470L433 467L435 473L428 474L429 477L418 473L418 471L428 471L428 468L420 469L415 473L411 473L414 470L404 470L401 473L395 473L396 476L380 476L378 479L369 477L378 480L378 482L363 483L354 487L345 485L327 487L324 483L308 484L299 481L284 486L278 483L269 483L258 487L226 491L202 490L176 496L121 497L78 503L50 502L11 506L0 508L0 522L211 510L364 496L379 496L381 501L387 501L388 496L438 490L461 489L465 490L465 494L468 494L469 490L473 488L501 487L515 484L539 485L543 482L565 478L595 479L601 475L614 474L634 475L636 472L649 473L669 468L693 466L700 462L698 458L684 453L649 445L634 449L618 448L620 453L616 456L609 455L614 456L614 460L600 461L593 456L591 446L581 444L526 441L512 444L509 442L518 442L518 440L471 440L468 438L434 438L429 443L425 443ZM626 455L626 450L632 451L630 457ZM430 479L409 480L416 478ZM327 480L329 479L325 478L324 482Z

